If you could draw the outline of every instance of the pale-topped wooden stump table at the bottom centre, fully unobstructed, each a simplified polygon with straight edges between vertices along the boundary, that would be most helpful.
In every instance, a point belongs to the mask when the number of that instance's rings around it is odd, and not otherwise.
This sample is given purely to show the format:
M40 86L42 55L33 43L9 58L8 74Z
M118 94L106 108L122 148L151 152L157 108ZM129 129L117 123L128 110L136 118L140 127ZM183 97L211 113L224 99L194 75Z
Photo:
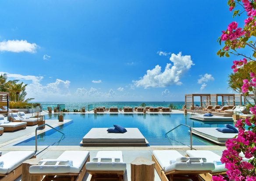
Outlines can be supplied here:
M137 157L131 163L131 181L154 181L155 162Z

